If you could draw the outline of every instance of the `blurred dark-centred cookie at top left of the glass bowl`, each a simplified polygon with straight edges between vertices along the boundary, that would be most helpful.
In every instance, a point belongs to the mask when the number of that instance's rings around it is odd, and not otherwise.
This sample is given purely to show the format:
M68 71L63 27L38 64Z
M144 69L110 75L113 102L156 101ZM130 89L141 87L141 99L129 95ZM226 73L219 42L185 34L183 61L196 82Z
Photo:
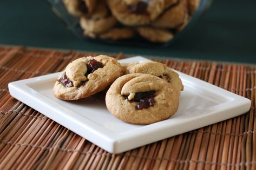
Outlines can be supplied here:
M94 11L96 0L63 0L65 8L73 16L87 16Z

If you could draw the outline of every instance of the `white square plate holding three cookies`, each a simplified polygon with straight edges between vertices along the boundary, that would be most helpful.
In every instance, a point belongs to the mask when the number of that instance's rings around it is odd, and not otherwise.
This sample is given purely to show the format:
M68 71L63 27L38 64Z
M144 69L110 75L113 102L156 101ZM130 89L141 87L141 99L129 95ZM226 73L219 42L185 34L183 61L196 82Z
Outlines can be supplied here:
M121 63L148 61L143 57L120 60ZM185 86L178 112L151 125L133 125L116 119L107 110L103 94L76 101L55 98L52 87L60 73L9 83L9 91L14 98L111 153L121 153L250 110L251 100L178 73Z

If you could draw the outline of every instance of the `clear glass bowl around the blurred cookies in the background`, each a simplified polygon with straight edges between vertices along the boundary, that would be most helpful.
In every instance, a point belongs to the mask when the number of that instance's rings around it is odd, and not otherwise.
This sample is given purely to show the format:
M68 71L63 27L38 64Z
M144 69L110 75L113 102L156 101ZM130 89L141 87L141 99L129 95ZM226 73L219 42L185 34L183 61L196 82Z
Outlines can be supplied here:
M71 30L77 38L84 39L86 41L97 42L97 43L107 43L114 45L125 45L125 46L168 46L172 42L175 41L178 37L182 35L182 32L185 32L195 23L198 17L211 5L213 0L201 0L198 9L194 12L191 21L183 28L179 33L174 35L174 38L171 39L167 43L152 43L147 39L142 38L140 36L136 36L132 39L122 39L122 40L111 40L111 39L100 39L100 38L90 38L83 35L83 29L80 26L80 18L71 16L65 8L62 0L48 0L50 3L52 10L56 13L58 17L61 18L63 23L67 26L69 30Z

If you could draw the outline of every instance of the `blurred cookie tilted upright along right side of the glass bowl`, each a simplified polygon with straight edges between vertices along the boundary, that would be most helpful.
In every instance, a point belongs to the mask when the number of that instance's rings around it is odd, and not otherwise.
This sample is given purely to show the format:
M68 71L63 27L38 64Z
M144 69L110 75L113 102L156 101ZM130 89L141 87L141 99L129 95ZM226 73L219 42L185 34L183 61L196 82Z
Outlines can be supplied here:
M171 6L160 17L152 22L152 25L157 28L174 29L180 26L187 13L187 0L179 0L175 6Z

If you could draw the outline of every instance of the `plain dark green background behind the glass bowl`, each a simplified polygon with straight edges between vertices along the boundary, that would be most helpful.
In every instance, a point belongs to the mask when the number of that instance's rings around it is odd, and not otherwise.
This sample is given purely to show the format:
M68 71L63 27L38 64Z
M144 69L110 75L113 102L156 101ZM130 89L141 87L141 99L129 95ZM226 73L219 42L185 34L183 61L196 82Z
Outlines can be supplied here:
M168 47L130 47L77 39L47 1L0 0L0 44L256 63L256 1L215 0Z

